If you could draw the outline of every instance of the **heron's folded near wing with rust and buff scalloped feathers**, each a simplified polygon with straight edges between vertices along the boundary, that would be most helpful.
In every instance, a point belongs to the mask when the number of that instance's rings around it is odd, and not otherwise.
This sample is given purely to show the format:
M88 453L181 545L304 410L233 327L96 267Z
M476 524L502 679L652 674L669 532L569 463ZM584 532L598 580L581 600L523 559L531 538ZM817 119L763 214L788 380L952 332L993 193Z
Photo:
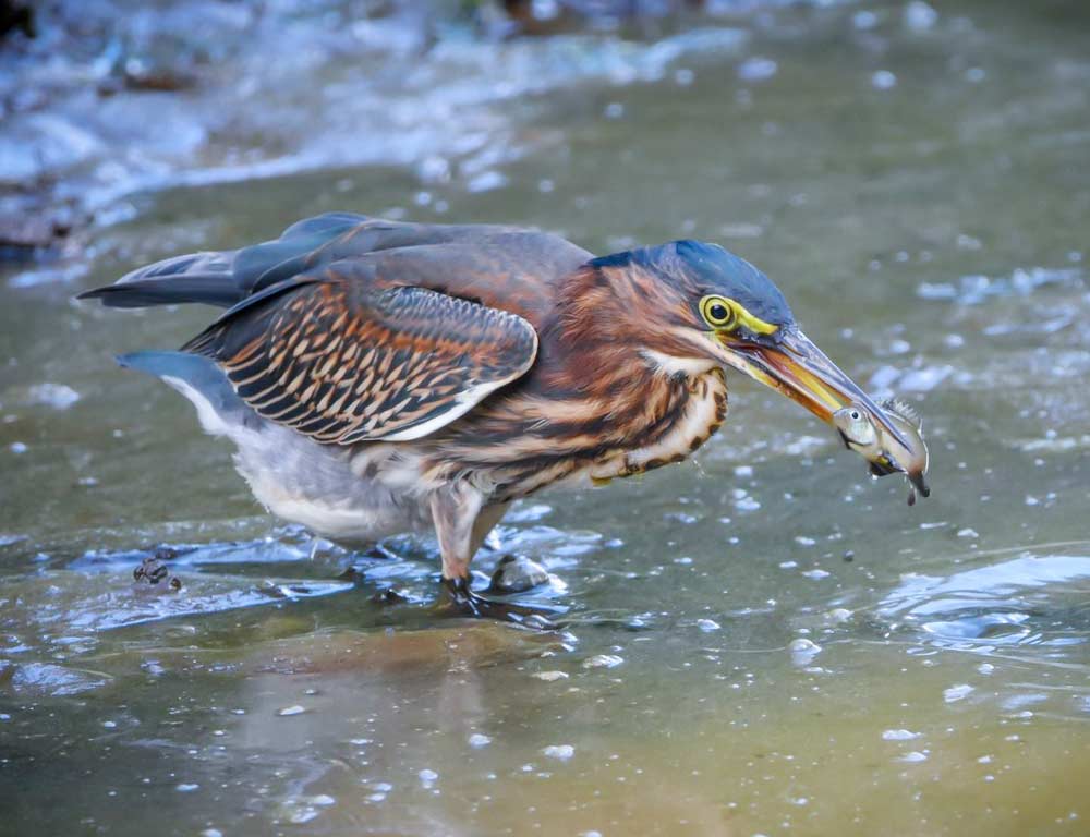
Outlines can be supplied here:
M261 415L339 445L426 436L533 365L523 317L353 267L266 286L183 349L216 360Z

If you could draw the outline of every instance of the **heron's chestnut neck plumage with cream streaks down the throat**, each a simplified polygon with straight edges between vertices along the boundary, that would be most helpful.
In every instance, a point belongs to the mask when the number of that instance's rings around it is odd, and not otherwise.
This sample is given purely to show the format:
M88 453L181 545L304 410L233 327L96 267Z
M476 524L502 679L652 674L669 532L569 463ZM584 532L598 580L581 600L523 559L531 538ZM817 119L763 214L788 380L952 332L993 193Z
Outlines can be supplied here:
M632 266L586 265L557 290L533 369L451 427L468 466L518 461L523 478L561 460L574 469L644 449L678 424L694 393L711 398L702 378L713 364L692 362L673 333L683 332L687 311L669 281Z

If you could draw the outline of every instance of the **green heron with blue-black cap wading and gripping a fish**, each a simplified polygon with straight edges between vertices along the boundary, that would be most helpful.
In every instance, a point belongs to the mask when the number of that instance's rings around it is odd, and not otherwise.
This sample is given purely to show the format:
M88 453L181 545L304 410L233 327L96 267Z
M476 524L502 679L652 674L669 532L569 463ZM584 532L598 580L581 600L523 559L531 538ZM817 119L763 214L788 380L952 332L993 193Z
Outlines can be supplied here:
M82 295L226 307L121 365L194 402L280 518L340 542L434 527L444 584L477 615L506 612L470 561L512 501L683 460L727 414L726 369L903 438L764 274L699 241L596 258L514 227L329 214Z

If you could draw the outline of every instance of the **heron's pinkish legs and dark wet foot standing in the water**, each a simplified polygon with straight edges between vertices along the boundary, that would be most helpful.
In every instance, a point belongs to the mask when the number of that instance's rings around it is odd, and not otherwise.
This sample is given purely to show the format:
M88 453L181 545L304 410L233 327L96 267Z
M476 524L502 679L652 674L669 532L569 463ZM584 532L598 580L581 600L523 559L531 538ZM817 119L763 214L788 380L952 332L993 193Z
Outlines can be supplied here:
M470 561L507 505L486 506L484 496L468 483L458 483L432 496L432 519L443 554L443 586L449 605L468 616L504 619L534 628L553 628L546 615L559 608L497 602L473 592Z

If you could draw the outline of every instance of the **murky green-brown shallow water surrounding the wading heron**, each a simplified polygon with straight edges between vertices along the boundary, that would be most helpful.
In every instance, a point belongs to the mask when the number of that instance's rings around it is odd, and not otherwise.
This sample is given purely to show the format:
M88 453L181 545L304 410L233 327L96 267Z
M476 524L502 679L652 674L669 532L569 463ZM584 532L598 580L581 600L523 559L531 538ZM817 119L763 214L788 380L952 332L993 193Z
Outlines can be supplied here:
M1085 834L1090 17L1022 5L756 7L619 76L459 41L564 83L464 105L483 138L440 162L131 194L3 274L0 832ZM433 544L280 526L111 366L208 312L70 302L334 208L720 241L919 409L932 497L732 380L693 463L544 493L479 558L542 561L565 632L437 618ZM177 594L131 584L160 544Z

